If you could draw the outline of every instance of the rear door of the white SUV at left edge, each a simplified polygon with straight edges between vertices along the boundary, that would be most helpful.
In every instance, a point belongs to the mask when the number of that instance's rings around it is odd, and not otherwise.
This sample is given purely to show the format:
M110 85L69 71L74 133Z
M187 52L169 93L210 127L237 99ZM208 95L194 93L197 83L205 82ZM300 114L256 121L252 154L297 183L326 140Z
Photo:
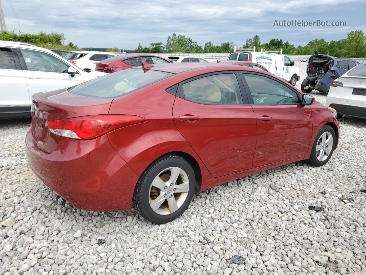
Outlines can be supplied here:
M30 106L27 81L14 48L0 47L0 106Z

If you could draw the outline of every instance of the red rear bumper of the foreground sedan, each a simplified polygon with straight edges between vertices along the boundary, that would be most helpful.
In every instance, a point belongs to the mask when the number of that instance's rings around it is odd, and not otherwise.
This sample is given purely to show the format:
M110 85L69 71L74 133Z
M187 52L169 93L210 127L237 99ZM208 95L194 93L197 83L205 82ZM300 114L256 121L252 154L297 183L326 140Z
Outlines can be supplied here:
M116 153L107 135L93 140L61 138L52 153L26 135L26 155L33 172L77 208L94 211L131 209L138 175Z

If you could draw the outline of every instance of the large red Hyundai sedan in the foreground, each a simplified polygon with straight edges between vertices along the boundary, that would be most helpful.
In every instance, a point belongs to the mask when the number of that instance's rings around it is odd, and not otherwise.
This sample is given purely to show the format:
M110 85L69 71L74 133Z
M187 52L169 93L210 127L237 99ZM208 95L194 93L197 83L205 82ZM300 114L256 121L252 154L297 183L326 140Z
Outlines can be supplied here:
M324 165L338 140L334 109L270 73L145 63L34 94L26 154L77 208L133 205L160 224L217 184L304 159Z

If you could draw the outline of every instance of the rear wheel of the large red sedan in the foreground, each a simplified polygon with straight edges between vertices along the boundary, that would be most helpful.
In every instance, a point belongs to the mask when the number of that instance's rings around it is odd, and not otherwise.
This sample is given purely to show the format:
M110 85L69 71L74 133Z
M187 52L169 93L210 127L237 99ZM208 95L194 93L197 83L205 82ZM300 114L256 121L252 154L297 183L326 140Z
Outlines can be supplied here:
M132 204L151 223L168 223L188 208L195 184L194 170L188 161L177 155L164 155L142 173Z

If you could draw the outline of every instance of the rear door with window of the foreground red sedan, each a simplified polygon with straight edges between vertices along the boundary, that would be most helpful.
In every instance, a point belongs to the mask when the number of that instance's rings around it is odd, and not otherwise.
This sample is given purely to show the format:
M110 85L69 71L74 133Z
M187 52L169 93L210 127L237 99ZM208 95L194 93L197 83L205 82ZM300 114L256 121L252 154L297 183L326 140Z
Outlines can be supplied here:
M214 177L253 166L256 118L238 77L231 71L186 80L173 105L175 126Z

